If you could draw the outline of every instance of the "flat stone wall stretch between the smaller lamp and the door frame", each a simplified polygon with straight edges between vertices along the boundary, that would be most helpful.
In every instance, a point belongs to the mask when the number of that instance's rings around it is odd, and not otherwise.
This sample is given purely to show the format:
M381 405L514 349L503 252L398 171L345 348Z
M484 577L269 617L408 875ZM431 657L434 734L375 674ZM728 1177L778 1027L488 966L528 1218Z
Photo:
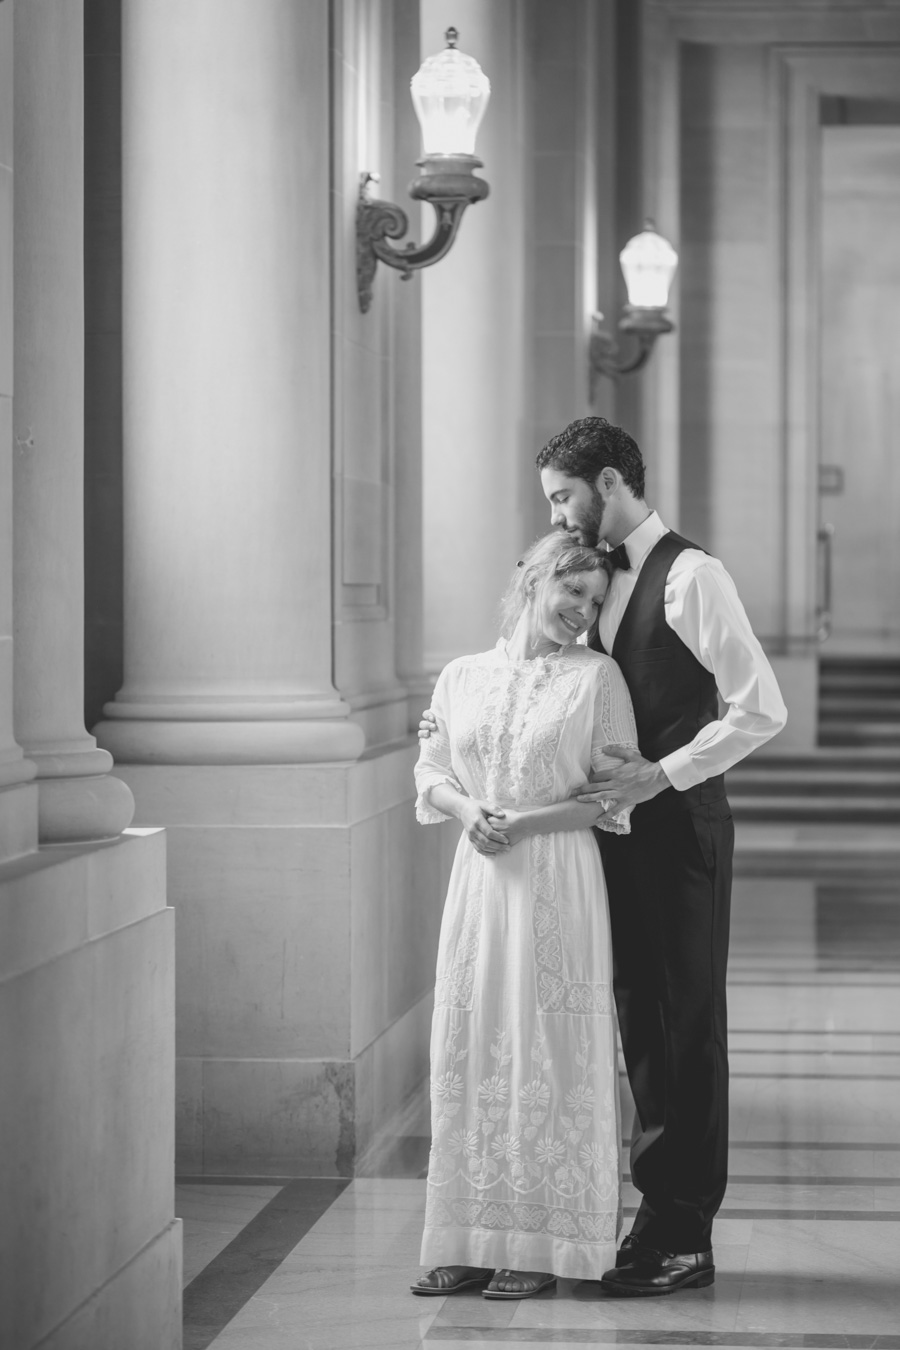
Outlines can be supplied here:
M681 529L781 634L777 202L761 46L681 54Z

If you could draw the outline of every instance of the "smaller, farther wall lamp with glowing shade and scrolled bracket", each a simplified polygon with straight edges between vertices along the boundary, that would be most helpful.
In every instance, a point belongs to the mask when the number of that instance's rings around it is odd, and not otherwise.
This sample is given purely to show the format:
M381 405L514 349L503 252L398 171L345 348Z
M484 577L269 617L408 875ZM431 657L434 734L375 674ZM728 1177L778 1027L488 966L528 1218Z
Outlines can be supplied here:
M621 348L613 333L600 328L603 315L592 317L594 329L588 346L591 367L591 402L598 375L630 375L646 366L653 344L660 333L671 333L675 324L667 313L669 288L679 265L679 255L672 244L657 235L652 220L644 221L640 235L629 239L619 254L629 302L619 319L619 332L637 339L637 351L630 359L622 359Z

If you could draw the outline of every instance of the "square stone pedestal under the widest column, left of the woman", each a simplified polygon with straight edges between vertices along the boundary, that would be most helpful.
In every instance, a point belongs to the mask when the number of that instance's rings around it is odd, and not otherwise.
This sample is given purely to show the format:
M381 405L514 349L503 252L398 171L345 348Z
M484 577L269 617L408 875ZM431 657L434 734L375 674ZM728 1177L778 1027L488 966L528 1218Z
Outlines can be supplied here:
M169 840L182 1174L355 1174L426 1075L459 826L416 759L117 765Z

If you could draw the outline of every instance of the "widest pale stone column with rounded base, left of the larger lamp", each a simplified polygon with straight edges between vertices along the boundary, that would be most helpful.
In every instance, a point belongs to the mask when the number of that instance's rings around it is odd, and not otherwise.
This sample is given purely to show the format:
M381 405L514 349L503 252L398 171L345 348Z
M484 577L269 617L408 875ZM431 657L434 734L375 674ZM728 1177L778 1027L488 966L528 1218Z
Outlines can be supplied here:
M309 22L294 0L123 4L125 656L97 734L130 763L363 748L332 684Z

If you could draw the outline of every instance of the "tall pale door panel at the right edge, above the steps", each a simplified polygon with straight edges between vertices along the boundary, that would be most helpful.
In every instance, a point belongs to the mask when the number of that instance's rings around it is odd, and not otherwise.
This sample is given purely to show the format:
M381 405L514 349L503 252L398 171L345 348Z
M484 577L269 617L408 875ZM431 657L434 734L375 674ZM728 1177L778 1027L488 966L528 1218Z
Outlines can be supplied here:
M834 103L845 119L823 117L820 194L820 582L830 610L823 655L896 656L900 104L881 105L882 124L873 126L846 117L854 100Z

